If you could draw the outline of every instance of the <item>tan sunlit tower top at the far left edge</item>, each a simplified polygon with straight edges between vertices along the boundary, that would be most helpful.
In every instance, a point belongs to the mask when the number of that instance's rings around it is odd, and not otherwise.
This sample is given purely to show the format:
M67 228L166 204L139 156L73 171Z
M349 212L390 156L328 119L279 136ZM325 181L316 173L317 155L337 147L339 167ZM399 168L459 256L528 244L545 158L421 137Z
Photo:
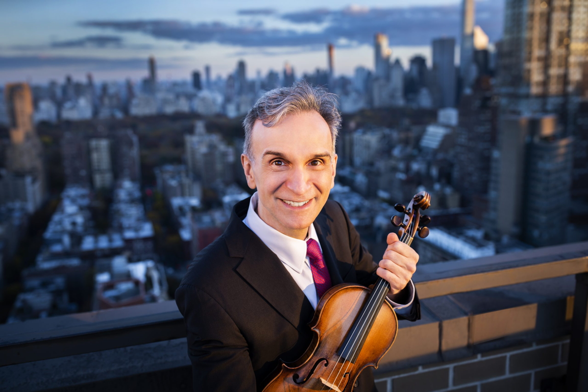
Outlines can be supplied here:
M27 135L34 132L31 88L26 83L8 84L4 95L11 142L21 144Z

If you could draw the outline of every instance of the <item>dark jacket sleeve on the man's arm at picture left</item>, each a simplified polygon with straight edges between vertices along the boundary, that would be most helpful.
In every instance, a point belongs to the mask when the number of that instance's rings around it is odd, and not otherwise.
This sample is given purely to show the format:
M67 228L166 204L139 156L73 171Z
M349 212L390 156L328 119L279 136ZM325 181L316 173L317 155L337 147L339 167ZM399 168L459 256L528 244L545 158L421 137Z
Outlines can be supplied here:
M184 317L193 390L255 392L255 374L245 338L209 294L191 284L175 292Z

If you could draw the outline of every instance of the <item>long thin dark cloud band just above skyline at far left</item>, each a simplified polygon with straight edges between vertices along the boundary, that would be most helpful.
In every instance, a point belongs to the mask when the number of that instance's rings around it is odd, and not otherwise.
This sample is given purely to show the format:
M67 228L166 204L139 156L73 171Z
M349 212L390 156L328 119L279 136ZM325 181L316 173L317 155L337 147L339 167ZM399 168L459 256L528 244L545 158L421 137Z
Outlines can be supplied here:
M113 69L147 68L147 59L104 59L92 57L62 56L0 56L0 71L23 68L55 68L79 66L88 71L106 71ZM158 68L175 68L171 64L159 64Z

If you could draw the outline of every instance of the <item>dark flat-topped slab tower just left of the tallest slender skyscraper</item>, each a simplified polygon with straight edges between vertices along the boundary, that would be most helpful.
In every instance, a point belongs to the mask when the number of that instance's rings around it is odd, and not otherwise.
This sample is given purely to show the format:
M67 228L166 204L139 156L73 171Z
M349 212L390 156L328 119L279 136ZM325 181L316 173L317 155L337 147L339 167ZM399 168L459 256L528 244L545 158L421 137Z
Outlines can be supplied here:
M441 108L455 107L455 38L433 39L433 73L437 105Z

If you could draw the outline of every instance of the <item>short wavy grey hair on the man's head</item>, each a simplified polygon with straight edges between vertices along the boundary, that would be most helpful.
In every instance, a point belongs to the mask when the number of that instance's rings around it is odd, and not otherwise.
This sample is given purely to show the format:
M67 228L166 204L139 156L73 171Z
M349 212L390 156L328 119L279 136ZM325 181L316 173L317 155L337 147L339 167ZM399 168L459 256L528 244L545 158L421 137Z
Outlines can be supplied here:
M258 99L243 120L243 128L245 128L243 154L253 162L251 134L256 120L260 120L263 126L270 127L278 124L289 114L313 110L318 112L329 125L333 140L332 153L335 154L337 135L341 126L337 96L324 88L313 87L306 81L296 82L290 87L270 90Z

